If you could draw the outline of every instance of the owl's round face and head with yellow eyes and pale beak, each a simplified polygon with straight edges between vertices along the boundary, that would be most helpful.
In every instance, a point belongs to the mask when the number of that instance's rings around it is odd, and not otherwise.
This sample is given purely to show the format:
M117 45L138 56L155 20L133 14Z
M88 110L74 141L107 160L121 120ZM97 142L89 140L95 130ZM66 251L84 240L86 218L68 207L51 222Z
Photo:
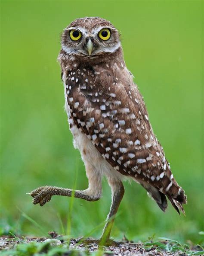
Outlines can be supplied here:
M76 19L62 33L62 49L81 58L113 53L121 46L117 29L98 17Z

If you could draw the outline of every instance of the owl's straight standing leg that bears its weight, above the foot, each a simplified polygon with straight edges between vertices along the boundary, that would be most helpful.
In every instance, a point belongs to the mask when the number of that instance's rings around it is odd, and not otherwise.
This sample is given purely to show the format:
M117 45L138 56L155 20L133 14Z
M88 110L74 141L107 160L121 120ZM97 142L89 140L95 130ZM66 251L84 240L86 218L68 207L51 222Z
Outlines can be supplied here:
M108 178L108 184L111 187L112 192L112 202L109 214L106 219L105 227L103 228L103 233L101 236L101 243L107 243L110 239L111 229L113 227L115 214L117 213L118 207L121 203L121 200L124 195L124 186L120 180L116 180L114 178Z

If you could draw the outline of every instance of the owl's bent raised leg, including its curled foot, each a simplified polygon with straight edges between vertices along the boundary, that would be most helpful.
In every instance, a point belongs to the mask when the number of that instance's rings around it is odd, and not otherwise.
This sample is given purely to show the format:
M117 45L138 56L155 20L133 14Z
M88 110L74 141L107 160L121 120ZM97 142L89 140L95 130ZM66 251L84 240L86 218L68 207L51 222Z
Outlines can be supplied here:
M34 199L34 205L40 204L43 206L46 202L49 202L53 195L64 195L73 196L75 198L81 198L87 201L97 201L102 195L102 180L101 175L96 175L93 166L87 166L87 177L89 179L89 187L85 190L74 190L74 189L64 189L54 186L43 186L34 189L30 194Z

